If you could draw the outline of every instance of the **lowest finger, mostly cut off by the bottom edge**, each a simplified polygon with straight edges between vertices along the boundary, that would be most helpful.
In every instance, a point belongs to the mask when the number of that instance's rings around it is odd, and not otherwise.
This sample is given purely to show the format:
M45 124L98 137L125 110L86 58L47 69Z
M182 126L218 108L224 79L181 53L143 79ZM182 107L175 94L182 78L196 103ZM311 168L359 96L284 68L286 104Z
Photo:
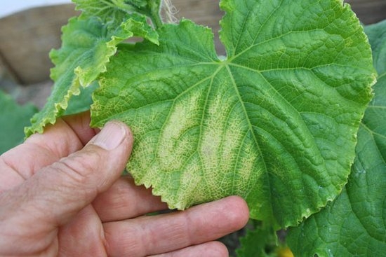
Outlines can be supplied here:
M161 253L148 257L197 257L197 256L210 256L210 257L228 257L227 247L220 242L207 242L204 244L198 244L189 246L177 251L171 251L169 253Z

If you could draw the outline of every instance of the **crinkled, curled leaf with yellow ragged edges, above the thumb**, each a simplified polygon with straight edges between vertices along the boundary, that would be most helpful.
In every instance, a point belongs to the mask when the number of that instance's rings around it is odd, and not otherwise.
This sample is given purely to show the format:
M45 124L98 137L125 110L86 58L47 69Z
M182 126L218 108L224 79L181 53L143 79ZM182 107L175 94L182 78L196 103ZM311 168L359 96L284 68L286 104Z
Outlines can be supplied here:
M117 44L131 36L143 36L158 43L157 33L147 25L145 16L132 15L114 29L109 29L99 18L71 18L62 28L62 48L50 54L55 64L51 70L55 81L53 92L44 108L32 118L32 126L26 128L27 137L43 132L48 123L55 123L67 109L69 99L106 71L109 58L117 52Z

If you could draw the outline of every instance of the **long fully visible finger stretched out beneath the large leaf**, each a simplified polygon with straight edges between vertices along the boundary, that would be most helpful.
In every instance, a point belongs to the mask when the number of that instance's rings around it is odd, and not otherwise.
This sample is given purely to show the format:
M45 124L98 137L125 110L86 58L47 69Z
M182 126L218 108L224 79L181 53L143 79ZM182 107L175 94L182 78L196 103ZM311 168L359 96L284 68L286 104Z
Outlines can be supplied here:
M244 227L241 197L200 204L186 211L104 224L109 256L148 256L213 241Z

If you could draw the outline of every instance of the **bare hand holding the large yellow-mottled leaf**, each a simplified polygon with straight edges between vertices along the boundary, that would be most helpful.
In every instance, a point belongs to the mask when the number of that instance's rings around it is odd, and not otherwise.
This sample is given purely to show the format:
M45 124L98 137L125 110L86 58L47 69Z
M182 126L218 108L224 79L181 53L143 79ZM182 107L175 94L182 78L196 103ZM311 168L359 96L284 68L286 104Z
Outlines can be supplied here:
M1 155L0 256L228 256L213 240L245 225L244 200L144 216L166 204L120 176L131 131L89 123L89 113L58 119Z

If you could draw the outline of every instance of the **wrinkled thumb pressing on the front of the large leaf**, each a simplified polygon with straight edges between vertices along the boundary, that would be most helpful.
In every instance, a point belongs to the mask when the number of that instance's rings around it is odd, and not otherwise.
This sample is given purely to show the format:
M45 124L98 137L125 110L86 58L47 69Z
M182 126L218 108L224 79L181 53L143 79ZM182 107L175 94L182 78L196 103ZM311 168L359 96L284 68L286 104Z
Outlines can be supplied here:
M13 193L23 196L19 211L34 211L41 218L37 220L54 226L67 223L119 178L132 146L124 123L107 123L81 151L44 167L15 188Z

